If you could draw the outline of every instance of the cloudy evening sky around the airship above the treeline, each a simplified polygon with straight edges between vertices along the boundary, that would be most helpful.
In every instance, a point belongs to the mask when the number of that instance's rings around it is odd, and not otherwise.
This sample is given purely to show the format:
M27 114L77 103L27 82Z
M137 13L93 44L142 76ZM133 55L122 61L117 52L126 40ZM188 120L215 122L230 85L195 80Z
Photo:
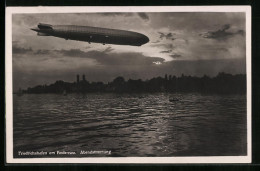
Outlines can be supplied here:
M129 30L150 41L138 47L37 36L30 28L38 23ZM245 33L245 13L238 12L13 14L14 90L74 82L77 74L104 83L117 76L245 74Z

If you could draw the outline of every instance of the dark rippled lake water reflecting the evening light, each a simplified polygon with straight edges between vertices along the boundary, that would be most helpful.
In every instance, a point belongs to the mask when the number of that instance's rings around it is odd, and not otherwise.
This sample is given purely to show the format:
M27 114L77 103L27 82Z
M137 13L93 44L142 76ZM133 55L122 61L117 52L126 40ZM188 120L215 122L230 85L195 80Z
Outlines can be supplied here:
M25 94L13 110L14 157L247 154L244 95Z

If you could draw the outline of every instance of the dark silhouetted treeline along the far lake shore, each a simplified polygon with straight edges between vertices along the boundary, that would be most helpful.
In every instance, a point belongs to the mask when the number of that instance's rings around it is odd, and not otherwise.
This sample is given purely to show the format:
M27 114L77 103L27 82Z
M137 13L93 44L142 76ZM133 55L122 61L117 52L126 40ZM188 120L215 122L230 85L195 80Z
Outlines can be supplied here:
M39 85L28 88L25 93L153 93L153 92L198 92L216 94L245 94L246 75L231 75L219 73L216 77L185 76L180 77L165 75L150 80L125 80L117 77L112 82L88 82L82 80L74 83L56 81L50 85Z

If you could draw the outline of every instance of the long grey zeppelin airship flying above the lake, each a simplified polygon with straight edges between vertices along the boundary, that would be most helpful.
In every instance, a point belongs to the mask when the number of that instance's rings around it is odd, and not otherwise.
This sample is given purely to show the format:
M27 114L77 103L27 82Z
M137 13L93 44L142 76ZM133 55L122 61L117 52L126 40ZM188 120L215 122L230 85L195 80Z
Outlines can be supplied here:
M37 28L31 30L36 31L38 36L54 36L89 43L141 46L149 42L149 38L141 33L100 27L39 23Z

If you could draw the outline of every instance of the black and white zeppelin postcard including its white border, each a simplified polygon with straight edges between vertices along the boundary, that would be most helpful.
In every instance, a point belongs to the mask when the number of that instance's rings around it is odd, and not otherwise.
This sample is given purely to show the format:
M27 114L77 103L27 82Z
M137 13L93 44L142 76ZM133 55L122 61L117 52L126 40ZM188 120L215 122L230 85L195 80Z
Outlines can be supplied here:
M250 163L251 8L8 7L7 163Z

